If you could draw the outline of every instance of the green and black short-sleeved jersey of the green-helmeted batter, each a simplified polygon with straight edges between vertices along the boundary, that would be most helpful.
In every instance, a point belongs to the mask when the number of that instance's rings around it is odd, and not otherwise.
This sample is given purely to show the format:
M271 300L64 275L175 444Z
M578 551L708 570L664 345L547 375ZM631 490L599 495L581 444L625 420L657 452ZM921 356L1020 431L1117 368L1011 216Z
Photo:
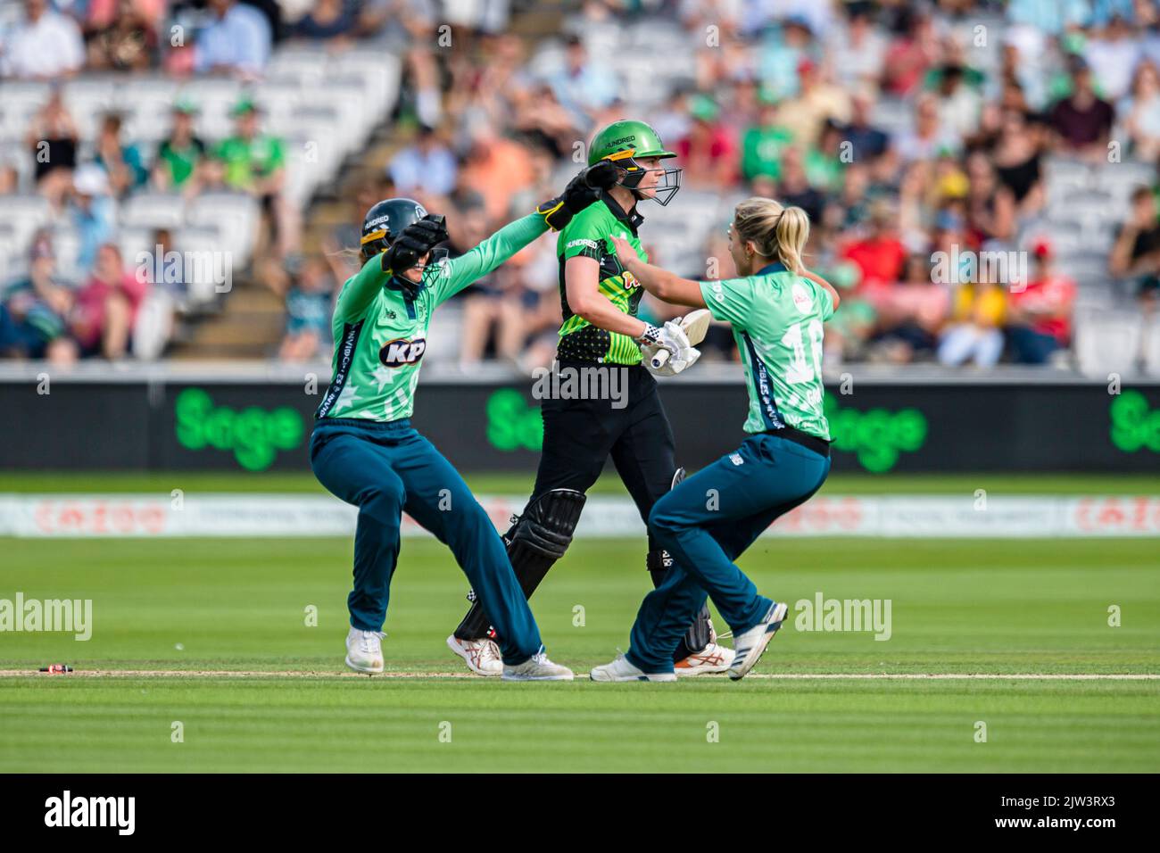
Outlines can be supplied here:
M640 347L626 334L596 328L568 308L568 294L564 283L564 267L568 258L583 255L600 265L597 289L617 309L636 317L644 289L632 274L616 260L616 248L609 237L628 240L643 261L648 255L640 247L637 227L644 222L636 211L624 209L610 195L604 194L595 203L572 217L572 222L560 231L556 253L560 259L560 308L564 324L557 357L573 361L593 361L610 364L639 364Z

